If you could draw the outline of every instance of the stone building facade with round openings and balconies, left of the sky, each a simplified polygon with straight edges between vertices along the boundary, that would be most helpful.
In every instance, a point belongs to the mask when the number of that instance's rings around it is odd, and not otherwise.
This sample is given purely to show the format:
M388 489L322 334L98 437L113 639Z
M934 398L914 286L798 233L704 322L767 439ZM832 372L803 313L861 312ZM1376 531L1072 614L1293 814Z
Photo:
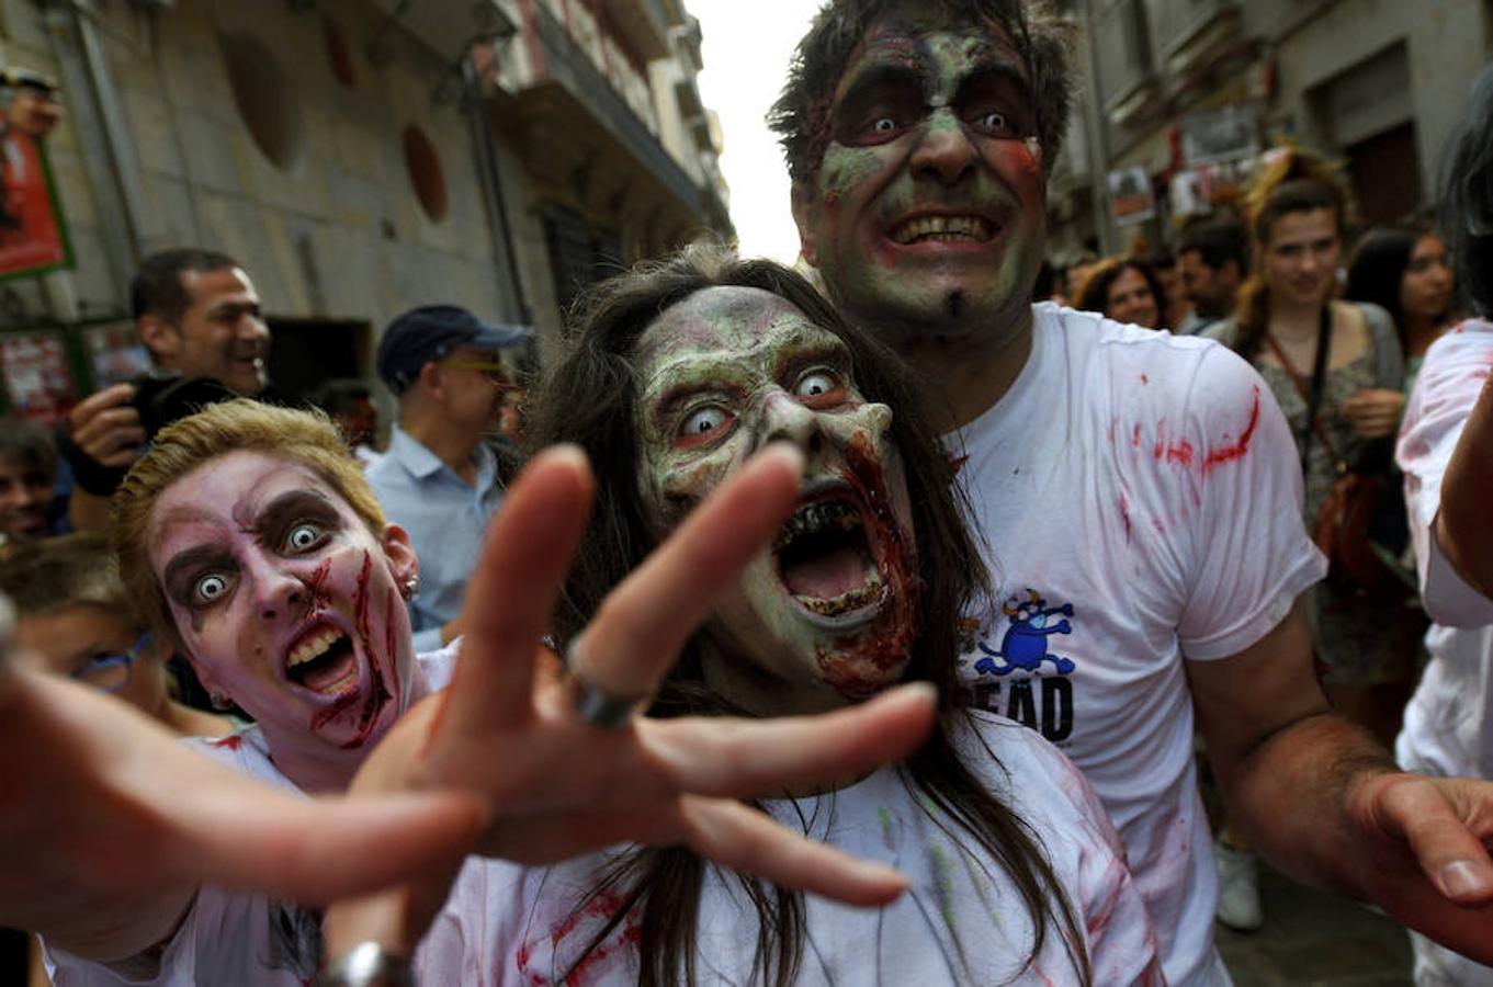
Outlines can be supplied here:
M73 254L0 282L0 348L61 340L78 394L167 246L243 261L303 393L414 305L552 336L578 285L730 233L679 0L0 0L0 61L63 88Z

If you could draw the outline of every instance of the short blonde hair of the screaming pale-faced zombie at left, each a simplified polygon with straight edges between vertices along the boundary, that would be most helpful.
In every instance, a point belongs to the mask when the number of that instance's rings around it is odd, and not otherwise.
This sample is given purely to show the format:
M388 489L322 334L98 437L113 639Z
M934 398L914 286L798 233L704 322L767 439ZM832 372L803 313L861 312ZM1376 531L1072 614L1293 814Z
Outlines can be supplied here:
M178 645L181 635L151 569L151 512L161 493L178 479L219 455L240 451L306 466L348 502L375 536L388 524L363 467L324 412L275 408L240 397L209 405L161 429L113 494L113 549L125 591L151 629Z

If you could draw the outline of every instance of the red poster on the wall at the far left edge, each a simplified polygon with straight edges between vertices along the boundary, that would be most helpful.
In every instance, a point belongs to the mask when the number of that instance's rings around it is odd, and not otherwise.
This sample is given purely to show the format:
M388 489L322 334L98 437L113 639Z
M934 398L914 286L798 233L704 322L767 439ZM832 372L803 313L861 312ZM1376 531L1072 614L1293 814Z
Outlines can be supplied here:
M0 278L30 275L72 261L46 151L31 134L0 139Z

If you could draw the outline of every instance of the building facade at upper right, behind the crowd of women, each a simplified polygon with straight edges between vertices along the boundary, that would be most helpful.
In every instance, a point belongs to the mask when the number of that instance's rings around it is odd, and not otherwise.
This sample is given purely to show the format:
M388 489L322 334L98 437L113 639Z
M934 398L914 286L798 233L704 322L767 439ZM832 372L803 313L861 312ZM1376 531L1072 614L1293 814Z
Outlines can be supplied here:
M1084 28L1084 96L1051 187L1059 257L1169 242L1182 214L1229 200L1285 142L1341 161L1366 222L1406 218L1432 205L1447 133L1493 52L1490 0L1063 6ZM1106 176L1136 167L1156 217L1118 227Z

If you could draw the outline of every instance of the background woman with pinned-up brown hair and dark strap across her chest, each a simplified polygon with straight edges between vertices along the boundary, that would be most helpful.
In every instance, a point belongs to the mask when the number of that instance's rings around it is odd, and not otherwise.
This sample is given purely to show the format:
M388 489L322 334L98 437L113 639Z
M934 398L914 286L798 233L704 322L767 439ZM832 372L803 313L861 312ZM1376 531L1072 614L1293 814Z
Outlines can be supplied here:
M1387 479L1405 396L1403 360L1388 314L1336 302L1348 197L1338 176L1299 151L1277 155L1248 194L1256 263L1239 311L1203 331L1232 346L1265 378L1296 435L1305 479L1303 521L1353 469ZM1312 405L1315 405L1312 408ZM1406 593L1408 596L1408 587ZM1323 685L1338 712L1388 745L1415 673L1424 621L1399 600L1366 597L1326 579L1312 587L1312 632ZM1256 865L1224 827L1217 845L1218 917L1259 927Z

